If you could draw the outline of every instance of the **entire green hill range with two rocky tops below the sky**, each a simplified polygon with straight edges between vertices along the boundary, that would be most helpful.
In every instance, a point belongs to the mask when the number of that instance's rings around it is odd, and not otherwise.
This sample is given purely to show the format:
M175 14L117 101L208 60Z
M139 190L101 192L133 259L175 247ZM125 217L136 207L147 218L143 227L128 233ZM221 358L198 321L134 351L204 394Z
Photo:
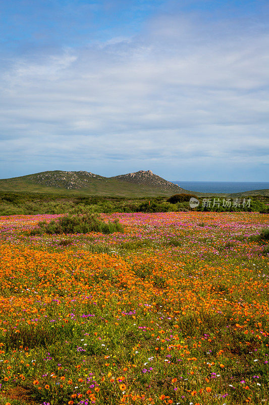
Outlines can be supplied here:
M0 179L0 191L48 194L153 196L183 192L178 185L151 171L103 177L91 172L47 171Z

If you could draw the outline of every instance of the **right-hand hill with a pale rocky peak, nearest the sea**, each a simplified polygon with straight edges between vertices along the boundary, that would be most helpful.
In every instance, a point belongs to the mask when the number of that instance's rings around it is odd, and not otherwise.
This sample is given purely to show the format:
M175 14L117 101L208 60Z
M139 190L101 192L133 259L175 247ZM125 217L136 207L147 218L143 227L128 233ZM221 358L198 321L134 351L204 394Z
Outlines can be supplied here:
M151 170L139 170L139 172L122 174L111 178L138 185L150 185L151 187L156 187L158 189L171 192L179 192L181 190L180 186L157 176L156 174L152 173Z

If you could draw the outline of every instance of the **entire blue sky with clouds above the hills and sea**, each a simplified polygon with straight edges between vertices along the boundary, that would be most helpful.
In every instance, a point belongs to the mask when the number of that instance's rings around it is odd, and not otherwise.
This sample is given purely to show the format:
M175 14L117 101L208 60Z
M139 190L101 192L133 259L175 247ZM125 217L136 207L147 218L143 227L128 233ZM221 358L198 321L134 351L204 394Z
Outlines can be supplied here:
M269 3L0 0L0 178L268 181Z

